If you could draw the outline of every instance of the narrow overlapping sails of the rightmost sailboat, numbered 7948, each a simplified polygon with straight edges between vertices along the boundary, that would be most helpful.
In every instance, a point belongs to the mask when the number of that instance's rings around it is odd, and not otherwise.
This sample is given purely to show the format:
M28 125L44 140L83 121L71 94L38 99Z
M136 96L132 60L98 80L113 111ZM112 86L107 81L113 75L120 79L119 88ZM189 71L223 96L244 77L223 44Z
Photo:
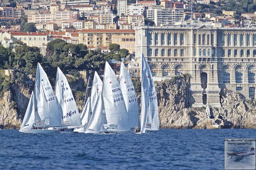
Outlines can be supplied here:
M156 88L144 55L141 63L141 133L159 130Z

